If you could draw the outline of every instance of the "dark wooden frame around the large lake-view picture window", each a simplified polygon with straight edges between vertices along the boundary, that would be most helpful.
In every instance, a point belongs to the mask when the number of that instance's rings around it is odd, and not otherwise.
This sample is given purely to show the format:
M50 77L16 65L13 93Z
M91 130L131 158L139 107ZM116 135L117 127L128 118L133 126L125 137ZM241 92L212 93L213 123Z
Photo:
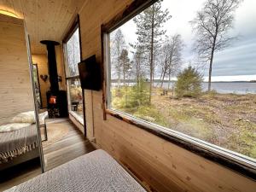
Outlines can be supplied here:
M222 166L230 168L235 172L239 172L246 177L256 180L256 160L253 158L236 153L226 148L219 147L212 143L207 143L201 139L190 137L182 132L174 131L172 128L156 125L143 119L138 119L131 114L123 113L119 110L110 108L111 63L109 58L110 50L108 46L109 34L155 2L157 2L157 0L134 1L128 7L126 7L125 10L113 17L113 20L110 20L108 23L102 25L102 67L104 73L102 91L103 119L107 119L107 114L111 115L114 118L123 120L131 125L135 125L138 128L154 134L155 136L174 143L181 148L185 148L192 153L201 155L207 160L212 160Z

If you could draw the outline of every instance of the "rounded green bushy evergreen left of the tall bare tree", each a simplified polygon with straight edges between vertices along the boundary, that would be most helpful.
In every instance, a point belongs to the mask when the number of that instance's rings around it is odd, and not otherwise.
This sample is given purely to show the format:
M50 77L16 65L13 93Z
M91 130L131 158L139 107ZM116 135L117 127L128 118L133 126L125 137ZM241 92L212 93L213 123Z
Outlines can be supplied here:
M177 82L175 84L175 94L181 97L198 97L201 95L202 75L195 67L187 67L183 72L178 73Z

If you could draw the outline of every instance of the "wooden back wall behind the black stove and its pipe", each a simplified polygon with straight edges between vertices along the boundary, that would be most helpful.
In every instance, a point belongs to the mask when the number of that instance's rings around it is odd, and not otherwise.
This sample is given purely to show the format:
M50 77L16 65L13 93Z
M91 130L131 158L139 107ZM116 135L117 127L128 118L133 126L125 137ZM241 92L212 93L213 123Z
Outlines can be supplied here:
M46 46L45 46L46 52ZM59 82L60 90L66 90L66 81L65 81L65 73L64 73L64 63L63 63L63 54L62 54L62 47L61 45L55 47L55 54L56 54L56 62L57 62L57 71L58 74L62 77L62 82ZM39 83L40 83L40 91L42 97L42 104L43 108L47 107L46 101L46 92L49 90L49 77L46 82L40 78L40 75L48 73L48 59L46 54L32 54L32 62L34 64L38 64L38 76L39 76Z

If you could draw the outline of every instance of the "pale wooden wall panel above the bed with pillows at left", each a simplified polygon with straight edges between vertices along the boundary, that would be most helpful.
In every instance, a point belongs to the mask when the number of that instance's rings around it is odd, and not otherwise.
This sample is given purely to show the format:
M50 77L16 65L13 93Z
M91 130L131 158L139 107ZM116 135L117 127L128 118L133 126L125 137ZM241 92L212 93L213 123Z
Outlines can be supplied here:
M0 124L33 108L23 21L0 15Z

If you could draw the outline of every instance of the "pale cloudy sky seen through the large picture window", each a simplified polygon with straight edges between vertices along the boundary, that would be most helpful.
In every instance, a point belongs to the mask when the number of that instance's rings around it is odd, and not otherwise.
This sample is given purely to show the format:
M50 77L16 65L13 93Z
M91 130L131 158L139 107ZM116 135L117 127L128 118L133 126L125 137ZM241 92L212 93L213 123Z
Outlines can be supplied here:
M196 54L192 51L195 33L189 24L195 18L197 10L202 8L205 0L164 0L163 9L168 9L172 18L166 22L166 35L181 34L183 48L183 67L193 65ZM237 39L228 48L215 54L212 65L213 81L237 81L256 79L256 0L244 0L234 14L230 37ZM126 44L137 40L136 25L133 20L119 27L125 35ZM203 74L207 79L208 65Z

